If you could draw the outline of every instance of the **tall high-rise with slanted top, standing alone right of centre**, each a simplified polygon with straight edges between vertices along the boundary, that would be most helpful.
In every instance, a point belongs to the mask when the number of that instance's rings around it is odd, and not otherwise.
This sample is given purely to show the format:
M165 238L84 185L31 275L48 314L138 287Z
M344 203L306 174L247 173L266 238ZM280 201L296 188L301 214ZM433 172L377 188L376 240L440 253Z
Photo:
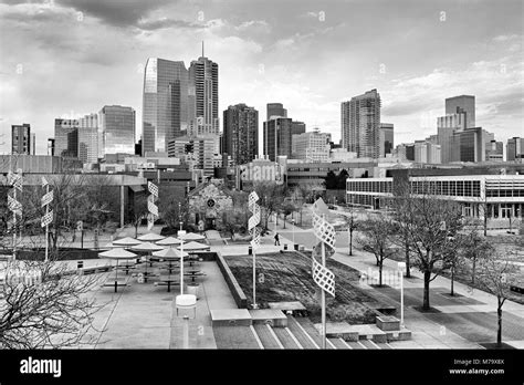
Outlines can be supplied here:
M342 146L358 157L380 157L380 94L371 90L340 105Z

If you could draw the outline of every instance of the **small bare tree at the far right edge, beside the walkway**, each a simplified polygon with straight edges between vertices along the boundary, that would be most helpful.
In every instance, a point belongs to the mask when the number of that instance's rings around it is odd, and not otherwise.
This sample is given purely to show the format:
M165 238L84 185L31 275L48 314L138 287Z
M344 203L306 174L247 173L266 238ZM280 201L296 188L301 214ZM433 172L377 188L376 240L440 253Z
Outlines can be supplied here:
M496 296L496 344L499 346L502 345L502 306L511 296L511 287L515 283L518 272L517 267L507 258L511 253L512 251L504 253L504 256L490 253L480 259L476 277L479 288Z

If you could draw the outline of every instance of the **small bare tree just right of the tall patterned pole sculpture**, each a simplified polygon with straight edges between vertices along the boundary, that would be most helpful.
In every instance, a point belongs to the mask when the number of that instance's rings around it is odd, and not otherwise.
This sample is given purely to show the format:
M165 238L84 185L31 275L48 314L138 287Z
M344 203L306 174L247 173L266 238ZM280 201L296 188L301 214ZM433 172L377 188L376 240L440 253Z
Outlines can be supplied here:
M365 251L375 256L378 267L378 285L382 285L384 261L395 254L391 248L391 240L395 236L396 225L381 215L369 216L360 222L359 231L361 237L359 243Z

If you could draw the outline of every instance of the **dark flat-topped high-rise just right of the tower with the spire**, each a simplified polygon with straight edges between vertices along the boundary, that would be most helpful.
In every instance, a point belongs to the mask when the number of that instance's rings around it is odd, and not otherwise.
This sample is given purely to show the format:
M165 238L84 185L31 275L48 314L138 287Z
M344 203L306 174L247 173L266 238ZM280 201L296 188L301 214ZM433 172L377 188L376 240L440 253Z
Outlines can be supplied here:
M230 105L223 112L222 153L237 165L250 163L259 155L259 112L245 104Z

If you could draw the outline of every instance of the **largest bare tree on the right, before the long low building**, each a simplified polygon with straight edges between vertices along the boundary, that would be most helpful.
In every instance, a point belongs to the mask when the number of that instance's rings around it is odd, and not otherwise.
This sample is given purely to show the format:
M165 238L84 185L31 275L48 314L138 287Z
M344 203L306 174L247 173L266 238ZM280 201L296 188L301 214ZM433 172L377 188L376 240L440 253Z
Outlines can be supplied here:
M422 309L429 310L430 282L442 273L449 250L455 247L457 233L462 230L462 209L459 204L438 198L426 180L399 184L389 201L398 232L405 238L413 264L423 274Z

